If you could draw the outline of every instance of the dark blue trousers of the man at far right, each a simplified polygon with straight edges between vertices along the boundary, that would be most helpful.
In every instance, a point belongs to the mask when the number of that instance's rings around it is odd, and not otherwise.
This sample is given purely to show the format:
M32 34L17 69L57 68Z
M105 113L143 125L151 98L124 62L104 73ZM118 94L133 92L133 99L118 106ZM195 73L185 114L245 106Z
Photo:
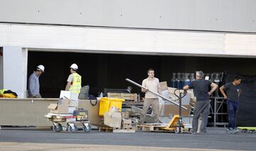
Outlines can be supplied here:
M238 102L227 100L228 105L228 128L236 128L236 114L238 113Z

